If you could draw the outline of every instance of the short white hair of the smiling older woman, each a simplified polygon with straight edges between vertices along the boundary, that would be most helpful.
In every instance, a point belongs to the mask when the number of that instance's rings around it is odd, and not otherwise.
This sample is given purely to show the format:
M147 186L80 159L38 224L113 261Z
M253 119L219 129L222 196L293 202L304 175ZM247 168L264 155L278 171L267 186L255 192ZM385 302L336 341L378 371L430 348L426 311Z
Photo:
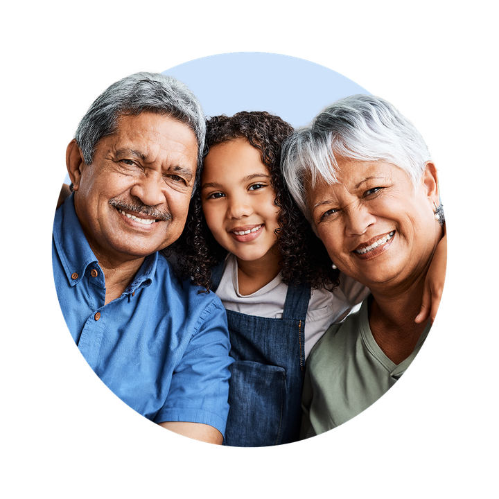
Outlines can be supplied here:
M310 222L306 185L313 189L321 180L337 183L337 159L394 164L414 186L426 161L432 161L414 123L392 103L369 94L345 97L326 107L310 126L299 128L286 140L281 158L288 189Z

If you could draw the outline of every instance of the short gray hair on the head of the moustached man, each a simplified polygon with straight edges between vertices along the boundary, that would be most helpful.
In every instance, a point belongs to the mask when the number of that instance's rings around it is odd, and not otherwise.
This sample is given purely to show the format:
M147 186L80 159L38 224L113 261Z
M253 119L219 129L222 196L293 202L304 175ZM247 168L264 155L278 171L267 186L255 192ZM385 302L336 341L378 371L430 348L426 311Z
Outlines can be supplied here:
M93 161L98 141L116 132L120 116L145 111L165 114L193 130L198 139L198 180L206 134L202 107L184 83L159 71L128 73L112 82L89 105L73 135L85 164Z

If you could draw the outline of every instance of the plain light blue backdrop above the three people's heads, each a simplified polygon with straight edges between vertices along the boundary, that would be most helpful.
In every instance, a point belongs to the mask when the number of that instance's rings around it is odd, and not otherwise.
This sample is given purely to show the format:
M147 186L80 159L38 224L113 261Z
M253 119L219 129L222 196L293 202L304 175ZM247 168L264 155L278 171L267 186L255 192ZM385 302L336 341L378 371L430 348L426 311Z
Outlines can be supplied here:
M360 83L323 64L272 52L204 55L164 72L194 92L207 116L268 111L295 128L308 124L338 98L370 93ZM69 183L69 179L66 177L64 182Z

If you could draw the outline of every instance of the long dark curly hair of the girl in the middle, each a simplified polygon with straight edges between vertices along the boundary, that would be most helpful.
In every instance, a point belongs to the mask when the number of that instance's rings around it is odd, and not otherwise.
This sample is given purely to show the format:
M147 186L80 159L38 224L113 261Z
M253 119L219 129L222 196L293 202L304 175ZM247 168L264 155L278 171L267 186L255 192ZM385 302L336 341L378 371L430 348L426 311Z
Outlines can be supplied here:
M282 256L281 277L288 285L308 283L312 288L338 286L338 270L315 236L304 215L293 202L281 174L281 145L293 132L289 123L268 112L238 112L234 116L214 116L207 120L207 148L234 139L245 139L261 152L261 160L270 172L274 204L279 207L277 249ZM209 230L201 207L198 185L189 207L182 236L168 248L175 252L177 271L183 278L209 290L211 268L227 255Z

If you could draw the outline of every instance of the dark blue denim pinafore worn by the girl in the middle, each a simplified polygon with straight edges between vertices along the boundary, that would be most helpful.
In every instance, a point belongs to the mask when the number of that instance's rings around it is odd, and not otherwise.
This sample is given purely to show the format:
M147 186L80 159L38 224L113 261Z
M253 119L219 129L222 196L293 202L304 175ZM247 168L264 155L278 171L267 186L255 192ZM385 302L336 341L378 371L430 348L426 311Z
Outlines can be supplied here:
M212 269L214 292L223 270ZM288 287L281 319L227 310L235 362L223 445L267 447L299 440L305 369L304 326L310 287Z

